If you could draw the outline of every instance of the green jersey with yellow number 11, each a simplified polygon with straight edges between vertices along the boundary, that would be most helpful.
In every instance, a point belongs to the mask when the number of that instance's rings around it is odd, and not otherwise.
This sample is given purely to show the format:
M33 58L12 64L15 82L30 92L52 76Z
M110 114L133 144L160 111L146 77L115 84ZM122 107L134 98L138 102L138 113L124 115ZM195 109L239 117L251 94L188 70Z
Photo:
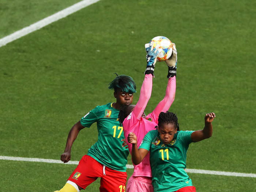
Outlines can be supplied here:
M192 132L178 131L170 144L161 142L157 130L149 131L145 135L139 148L150 151L154 191L170 192L192 186L192 181L185 172Z

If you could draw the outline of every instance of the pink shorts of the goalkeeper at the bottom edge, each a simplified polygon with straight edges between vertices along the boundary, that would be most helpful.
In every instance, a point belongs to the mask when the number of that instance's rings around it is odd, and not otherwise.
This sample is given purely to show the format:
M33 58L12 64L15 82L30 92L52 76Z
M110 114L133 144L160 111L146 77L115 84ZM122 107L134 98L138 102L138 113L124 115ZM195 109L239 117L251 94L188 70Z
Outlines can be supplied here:
M151 177L131 176L126 185L126 192L154 192Z

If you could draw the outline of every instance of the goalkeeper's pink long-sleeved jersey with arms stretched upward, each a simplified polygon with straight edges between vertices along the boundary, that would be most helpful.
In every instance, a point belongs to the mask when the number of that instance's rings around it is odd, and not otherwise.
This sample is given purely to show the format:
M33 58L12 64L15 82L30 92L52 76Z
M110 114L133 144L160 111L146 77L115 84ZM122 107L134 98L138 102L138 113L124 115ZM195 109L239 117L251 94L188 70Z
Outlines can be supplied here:
M142 87L140 89L140 98L136 104L134 110L125 118L123 122L124 137L127 139L130 132L135 133L137 136L137 145L140 146L144 136L148 131L154 130L158 124L158 116L160 112L166 112L172 105L176 91L176 76L169 78L165 97L161 102L158 103L157 107L152 113L146 116L146 119L142 117L142 113L146 108L147 102L150 99L152 91L152 75L145 75ZM128 148L131 153L132 144L128 143ZM134 165L133 176L146 176L152 177L150 160L148 153L146 157L140 162L139 165Z

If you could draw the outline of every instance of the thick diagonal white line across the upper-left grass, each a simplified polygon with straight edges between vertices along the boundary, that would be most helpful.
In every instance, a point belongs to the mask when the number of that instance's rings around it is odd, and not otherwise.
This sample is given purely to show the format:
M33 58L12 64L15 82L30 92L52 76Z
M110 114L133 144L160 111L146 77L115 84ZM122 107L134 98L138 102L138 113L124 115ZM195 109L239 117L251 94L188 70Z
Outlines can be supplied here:
M96 3L99 0L83 0L79 3L76 3L68 8L65 8L64 10L61 10L57 12L56 14L53 14L51 16L48 16L42 20L39 20L36 23L33 23L32 25L25 27L19 31L16 31L15 33L12 33L6 37L3 37L0 39L0 47L4 46L20 37L23 37L29 33L32 33L33 31L36 31L38 29L41 29L42 27L49 25L50 23L53 23L61 18L64 18L76 11L79 11L80 9L87 7L93 3Z

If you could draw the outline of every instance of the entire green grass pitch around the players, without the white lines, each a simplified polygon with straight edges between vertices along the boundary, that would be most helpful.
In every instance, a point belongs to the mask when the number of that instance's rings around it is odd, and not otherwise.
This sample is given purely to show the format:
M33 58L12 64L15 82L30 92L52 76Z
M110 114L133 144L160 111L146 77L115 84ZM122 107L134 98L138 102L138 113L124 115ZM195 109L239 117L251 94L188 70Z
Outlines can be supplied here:
M78 1L1 0L0 38ZM114 72L133 77L136 103L144 44L163 35L178 51L170 111L180 128L201 129L206 112L217 115L212 137L189 147L187 168L256 173L255 10L246 0L101 0L0 47L0 155L59 159L72 125L96 105L114 101L107 89ZM164 97L166 75L165 63L158 62L146 113ZM72 161L87 153L97 134L96 125L79 133ZM0 160L0 191L55 191L75 167ZM189 176L197 192L256 189L256 178ZM86 190L98 188L99 180Z

